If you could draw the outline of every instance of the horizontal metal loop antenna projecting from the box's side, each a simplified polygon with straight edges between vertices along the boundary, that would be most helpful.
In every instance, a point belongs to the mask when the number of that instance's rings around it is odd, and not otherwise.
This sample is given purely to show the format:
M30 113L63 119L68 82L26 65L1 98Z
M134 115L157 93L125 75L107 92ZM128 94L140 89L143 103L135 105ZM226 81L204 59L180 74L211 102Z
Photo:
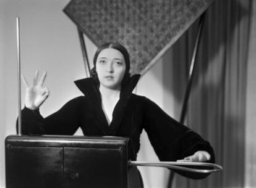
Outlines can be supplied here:
M215 173L223 170L222 166L220 165L216 165L213 163L200 163L200 162L130 161L129 160L128 164L131 166L165 167L173 170L183 170L183 171L190 171L194 173ZM193 166L210 167L213 169L198 169L198 168L194 168Z

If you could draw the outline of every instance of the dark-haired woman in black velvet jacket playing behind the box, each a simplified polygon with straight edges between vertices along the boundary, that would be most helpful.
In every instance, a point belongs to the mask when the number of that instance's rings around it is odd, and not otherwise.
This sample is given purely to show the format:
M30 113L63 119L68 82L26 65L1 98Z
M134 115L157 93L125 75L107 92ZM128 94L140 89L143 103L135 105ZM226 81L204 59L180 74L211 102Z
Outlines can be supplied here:
M133 149L130 146L129 158L136 160L140 134L145 129L162 161L214 163L213 149L207 141L164 113L151 100L132 94L140 75L130 77L130 60L125 47L118 43L103 44L96 51L93 64L93 78L75 81L84 96L70 100L46 118L39 112L49 96L49 90L43 87L46 73L38 82L36 72L32 85L22 76L26 86L22 134L72 135L80 127L86 136L130 137ZM205 177L181 174L189 178Z

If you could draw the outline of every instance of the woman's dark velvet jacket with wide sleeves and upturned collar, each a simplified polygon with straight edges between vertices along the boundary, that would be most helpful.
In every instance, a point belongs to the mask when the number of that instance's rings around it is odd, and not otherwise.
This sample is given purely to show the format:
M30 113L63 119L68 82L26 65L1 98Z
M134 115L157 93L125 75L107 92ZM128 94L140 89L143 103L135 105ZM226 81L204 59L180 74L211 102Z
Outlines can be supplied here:
M84 96L70 100L46 118L39 110L23 108L22 134L72 135L80 127L86 136L129 137L133 142L129 147L129 158L135 160L140 148L140 134L145 129L161 161L176 161L205 150L211 155L208 162L213 163L215 155L209 142L171 118L151 100L132 93L139 77L132 76L122 86L110 125L101 108L98 85L92 78L85 78L75 81Z

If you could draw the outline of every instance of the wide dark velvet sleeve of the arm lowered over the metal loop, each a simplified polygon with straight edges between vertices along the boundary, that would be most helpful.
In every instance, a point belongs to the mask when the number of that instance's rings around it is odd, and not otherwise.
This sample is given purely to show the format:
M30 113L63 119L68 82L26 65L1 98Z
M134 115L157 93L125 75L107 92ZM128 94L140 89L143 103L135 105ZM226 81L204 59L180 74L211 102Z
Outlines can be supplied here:
M145 99L143 125L151 145L161 161L176 161L193 155L198 150L204 150L211 155L210 160L206 162L215 162L215 154L209 142L203 140L192 129L171 118L158 105L147 98ZM183 171L176 172L194 179L205 178L208 175Z

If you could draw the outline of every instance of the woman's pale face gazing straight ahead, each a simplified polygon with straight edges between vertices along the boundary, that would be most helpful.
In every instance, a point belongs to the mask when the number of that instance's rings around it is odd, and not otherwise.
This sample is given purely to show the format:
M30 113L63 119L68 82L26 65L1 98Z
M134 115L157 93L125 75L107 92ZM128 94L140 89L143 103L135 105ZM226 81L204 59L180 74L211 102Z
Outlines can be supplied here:
M96 72L100 84L109 89L120 89L126 73L124 55L113 48L106 48L98 54Z

